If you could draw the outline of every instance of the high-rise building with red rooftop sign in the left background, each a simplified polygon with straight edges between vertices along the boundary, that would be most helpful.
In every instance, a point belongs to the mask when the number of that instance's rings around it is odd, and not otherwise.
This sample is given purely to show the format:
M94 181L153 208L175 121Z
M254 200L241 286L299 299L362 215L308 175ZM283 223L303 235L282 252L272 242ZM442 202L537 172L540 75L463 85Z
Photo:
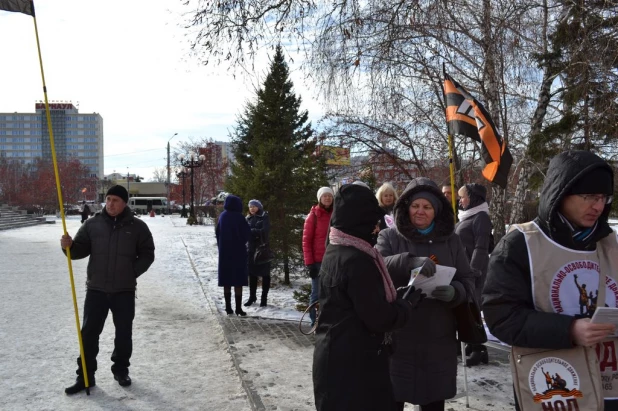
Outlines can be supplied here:
M103 117L80 113L72 103L50 103L56 157L77 158L90 168L91 177L103 177ZM45 104L34 113L0 113L0 157L23 164L51 159Z

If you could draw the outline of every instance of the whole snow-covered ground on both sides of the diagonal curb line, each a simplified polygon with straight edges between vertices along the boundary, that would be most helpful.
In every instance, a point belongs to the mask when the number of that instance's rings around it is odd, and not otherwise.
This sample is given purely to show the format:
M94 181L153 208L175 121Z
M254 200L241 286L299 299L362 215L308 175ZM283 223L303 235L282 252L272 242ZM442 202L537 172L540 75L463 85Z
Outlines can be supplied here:
M156 259L138 281L133 385L120 387L109 371L114 329L109 320L90 396L63 392L75 377L78 343L60 221L0 232L0 409L315 409L313 348L269 334L276 328L272 319L300 318L292 295L309 283L304 273L293 273L291 286L273 281L268 307L246 309L271 328L230 334L238 323L223 315L214 228L187 226L178 216L142 218L154 235ZM79 226L79 216L69 217L70 234ZM86 262L73 262L80 316ZM490 364L467 369L470 409L512 409L506 355L491 353ZM463 391L461 366L458 386ZM447 410L465 409L462 398L447 403Z

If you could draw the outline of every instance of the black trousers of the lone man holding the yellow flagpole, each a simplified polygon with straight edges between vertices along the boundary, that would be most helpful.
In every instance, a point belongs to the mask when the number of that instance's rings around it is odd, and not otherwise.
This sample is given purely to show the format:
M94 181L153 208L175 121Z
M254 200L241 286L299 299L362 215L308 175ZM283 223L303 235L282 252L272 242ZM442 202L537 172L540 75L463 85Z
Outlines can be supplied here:
M112 373L127 375L133 352L133 318L135 318L135 291L105 293L86 291L84 302L84 320L82 324L82 343L88 375L97 370L99 354L99 336L105 326L107 314L111 310L116 337L112 352ZM81 357L77 357L77 375L83 375Z

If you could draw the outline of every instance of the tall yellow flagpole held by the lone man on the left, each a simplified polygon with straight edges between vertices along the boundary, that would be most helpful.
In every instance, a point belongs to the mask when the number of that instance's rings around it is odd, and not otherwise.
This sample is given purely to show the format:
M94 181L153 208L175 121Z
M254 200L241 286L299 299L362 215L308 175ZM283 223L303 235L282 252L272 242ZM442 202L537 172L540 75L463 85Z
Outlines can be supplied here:
M52 151L52 161L54 163L54 176L56 177L56 190L58 191L58 204L60 206L60 217L62 218L62 230L65 235L67 233L67 224L64 217L64 201L62 200L62 189L60 188L60 174L58 173L58 162L56 161L56 146L54 143L54 132L52 130L51 115L49 113L49 102L47 101L47 86L45 85L45 73L43 72L43 58L41 57L41 44L39 42L39 30L36 24L36 16L32 16L34 20L34 33L36 36L36 46L39 53L39 65L41 66L41 79L43 80L43 95L45 96L45 115L47 116L47 130L49 131L49 142ZM82 342L81 326L79 324L79 310L77 308L77 296L75 295L75 281L73 280L73 265L71 264L71 250L66 249L67 264L69 265L69 279L71 280L71 293L73 294L73 310L75 311L75 325L77 327L77 339L79 340L79 353L82 359L82 371L84 374L84 383L86 385L86 394L90 395L90 382L88 381L88 371L86 369L86 359L84 357L84 344Z

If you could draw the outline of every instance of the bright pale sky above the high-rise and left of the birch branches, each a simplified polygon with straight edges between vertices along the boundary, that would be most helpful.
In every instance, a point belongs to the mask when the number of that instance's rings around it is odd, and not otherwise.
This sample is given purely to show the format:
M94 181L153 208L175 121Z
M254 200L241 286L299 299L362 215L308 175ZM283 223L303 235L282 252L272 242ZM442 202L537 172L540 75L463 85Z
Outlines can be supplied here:
M189 55L190 9L180 0L35 0L50 101L99 113L105 173L152 178L166 166L167 142L228 140L237 114L267 71L264 50L253 78L204 67ZM34 112L43 100L32 18L0 11L0 112ZM272 52L270 52L272 54ZM321 109L302 73L295 91L315 124Z

